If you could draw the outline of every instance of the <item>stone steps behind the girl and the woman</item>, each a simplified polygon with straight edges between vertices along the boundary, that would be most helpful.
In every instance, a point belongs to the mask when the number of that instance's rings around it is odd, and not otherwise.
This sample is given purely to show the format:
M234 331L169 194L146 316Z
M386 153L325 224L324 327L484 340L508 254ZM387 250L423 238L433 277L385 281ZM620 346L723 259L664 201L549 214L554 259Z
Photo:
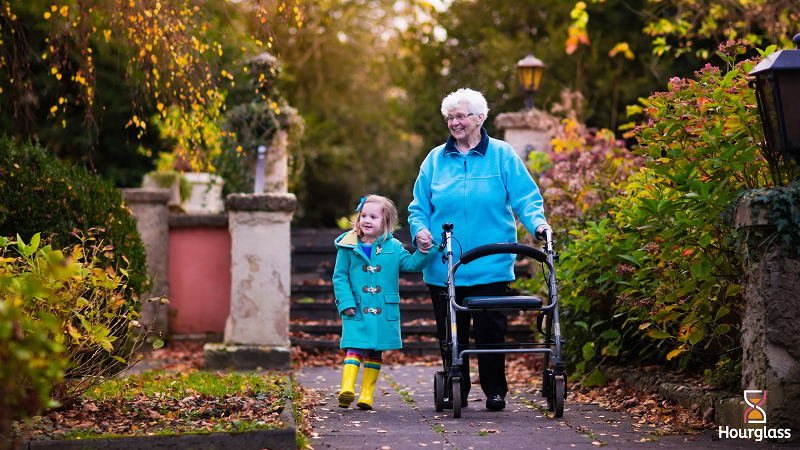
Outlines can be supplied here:
M334 305L333 266L336 262L334 239L339 229L292 229L292 345L317 349L338 349L341 319ZM413 251L408 229L393 233L409 251ZM518 268L517 277L527 276ZM403 352L438 354L436 321L428 287L422 273L400 274L400 317ZM509 313L507 340L530 340L532 313Z

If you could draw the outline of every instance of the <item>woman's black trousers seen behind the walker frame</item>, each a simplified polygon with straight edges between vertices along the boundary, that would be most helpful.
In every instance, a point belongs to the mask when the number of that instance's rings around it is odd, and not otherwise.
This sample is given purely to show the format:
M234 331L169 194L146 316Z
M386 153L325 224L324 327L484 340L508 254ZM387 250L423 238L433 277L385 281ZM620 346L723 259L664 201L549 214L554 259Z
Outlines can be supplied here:
M447 317L447 288L441 286L428 285L433 302L433 312L436 315L436 331L439 334L439 341L447 340L447 328L445 318ZM456 303L463 305L466 297L483 297L504 295L508 289L508 282L478 284L475 286L456 286ZM456 324L458 326L458 346L463 349L469 343L470 315L475 323L475 343L476 344L498 344L505 342L505 334L508 329L508 314L505 311L488 312L456 312ZM445 355L442 351L442 360ZM461 365L461 373L466 380L462 397L466 398L470 390L469 382L469 355L464 355L464 363ZM482 353L478 354L478 375L481 379L481 388L487 397L493 395L506 396L508 384L506 382L506 355L505 353Z

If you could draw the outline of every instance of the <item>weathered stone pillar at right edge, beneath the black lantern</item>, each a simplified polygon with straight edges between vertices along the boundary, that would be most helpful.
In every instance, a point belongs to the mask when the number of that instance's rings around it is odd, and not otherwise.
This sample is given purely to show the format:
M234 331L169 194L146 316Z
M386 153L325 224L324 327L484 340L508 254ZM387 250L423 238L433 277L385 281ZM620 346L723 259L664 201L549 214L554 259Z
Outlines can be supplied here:
M767 423L752 426L789 428L789 442L796 443L800 442L800 260L782 253L780 239L770 236L776 228L766 219L769 207L754 207L752 200L745 197L735 216L738 231L751 238L743 286L742 387L767 391L762 406ZM742 402L743 415L748 407Z

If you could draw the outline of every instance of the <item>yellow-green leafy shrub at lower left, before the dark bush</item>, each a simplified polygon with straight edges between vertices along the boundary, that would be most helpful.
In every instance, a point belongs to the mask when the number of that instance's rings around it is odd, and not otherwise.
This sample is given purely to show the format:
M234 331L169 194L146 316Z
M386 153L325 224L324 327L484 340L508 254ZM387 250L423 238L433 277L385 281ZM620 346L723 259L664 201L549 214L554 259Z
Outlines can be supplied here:
M147 329L131 339L141 325L131 307L137 297L127 286L128 271L99 264L101 254L113 248L93 232L74 233L79 243L64 251L40 246L37 233L29 244L16 242L17 257L8 257L6 247L13 242L0 239L0 298L24 317L17 336L49 340L58 347L51 346L51 353L60 348L52 361L64 369L65 381L50 387L63 403L113 372L110 360L127 364ZM30 382L41 392L40 384L52 380L50 374Z

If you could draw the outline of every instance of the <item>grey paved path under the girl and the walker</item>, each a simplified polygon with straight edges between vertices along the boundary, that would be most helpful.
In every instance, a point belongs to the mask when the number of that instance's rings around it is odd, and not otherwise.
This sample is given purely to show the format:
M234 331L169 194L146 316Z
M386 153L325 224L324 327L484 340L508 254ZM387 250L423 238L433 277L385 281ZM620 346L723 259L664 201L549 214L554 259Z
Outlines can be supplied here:
M489 411L480 386L473 385L461 418L433 406L433 374L438 367L384 366L375 389L374 409L339 408L341 370L304 368L295 379L326 399L316 408L310 444L320 449L514 450L514 449L798 449L741 439L712 440L714 432L656 436L647 424L594 404L567 403L564 417L546 414L538 394L510 393L506 409ZM356 383L360 388L361 374ZM800 431L800 430L798 430Z

